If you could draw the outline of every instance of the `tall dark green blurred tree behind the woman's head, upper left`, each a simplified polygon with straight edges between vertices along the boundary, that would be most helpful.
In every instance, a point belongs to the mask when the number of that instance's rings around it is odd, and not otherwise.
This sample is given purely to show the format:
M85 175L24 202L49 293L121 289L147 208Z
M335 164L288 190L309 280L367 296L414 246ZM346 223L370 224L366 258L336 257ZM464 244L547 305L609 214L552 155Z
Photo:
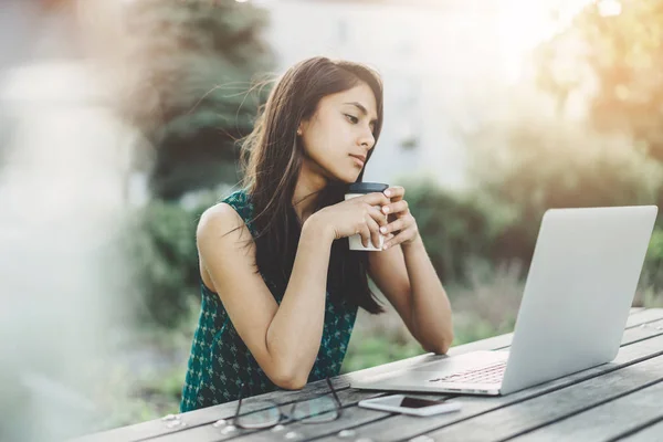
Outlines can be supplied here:
M152 194L238 179L238 138L251 131L264 90L251 85L272 63L263 10L233 0L134 0L125 10L131 71L123 114L156 151Z

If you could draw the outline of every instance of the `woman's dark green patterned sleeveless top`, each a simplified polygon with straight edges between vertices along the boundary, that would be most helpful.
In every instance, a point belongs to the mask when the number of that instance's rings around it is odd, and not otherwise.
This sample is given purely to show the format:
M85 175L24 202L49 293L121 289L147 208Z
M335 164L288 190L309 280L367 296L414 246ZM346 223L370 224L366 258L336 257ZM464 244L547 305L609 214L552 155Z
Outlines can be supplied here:
M242 217L249 231L255 236L251 222L253 207L246 192L235 191L223 202ZM274 259L277 260L278 256ZM267 280L265 284L281 304L284 293L280 293ZM219 295L202 282L200 285L201 312L191 345L180 410L185 412L238 400L242 383L245 385L244 397L276 390L277 387L260 368L240 338ZM305 315L306 312L301 314ZM308 382L339 373L356 317L357 306L339 296L330 296L327 291L323 338Z

